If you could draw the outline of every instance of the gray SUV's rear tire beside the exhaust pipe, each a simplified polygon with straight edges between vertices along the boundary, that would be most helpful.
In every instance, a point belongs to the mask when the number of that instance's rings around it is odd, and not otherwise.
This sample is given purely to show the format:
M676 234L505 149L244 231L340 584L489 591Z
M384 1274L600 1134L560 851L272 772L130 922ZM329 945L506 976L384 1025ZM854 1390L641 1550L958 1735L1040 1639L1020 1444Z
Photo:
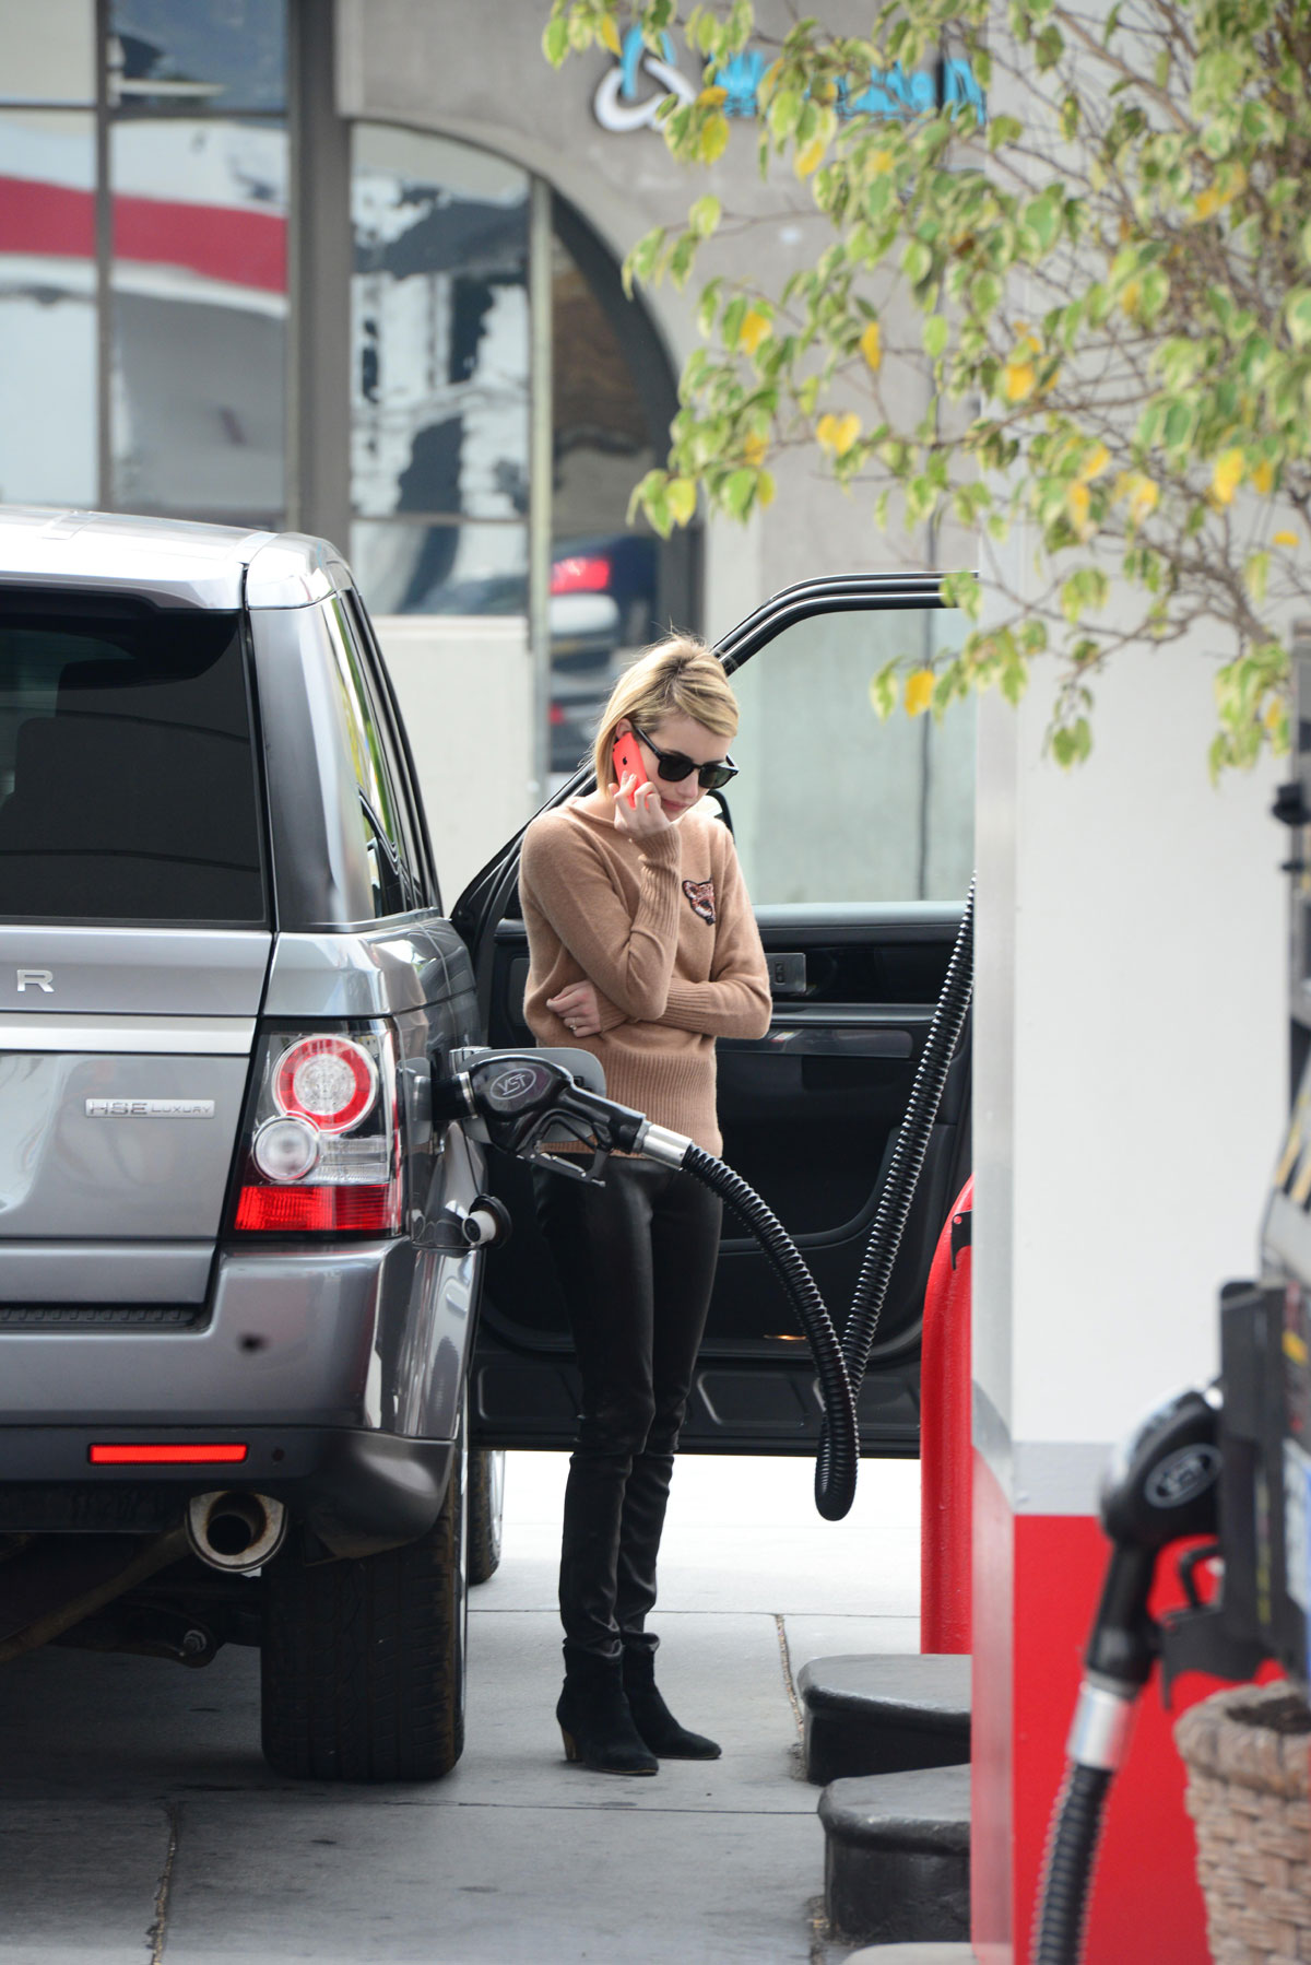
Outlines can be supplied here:
M289 1780L438 1780L464 1751L464 1431L442 1511L417 1543L265 1570L261 1735Z

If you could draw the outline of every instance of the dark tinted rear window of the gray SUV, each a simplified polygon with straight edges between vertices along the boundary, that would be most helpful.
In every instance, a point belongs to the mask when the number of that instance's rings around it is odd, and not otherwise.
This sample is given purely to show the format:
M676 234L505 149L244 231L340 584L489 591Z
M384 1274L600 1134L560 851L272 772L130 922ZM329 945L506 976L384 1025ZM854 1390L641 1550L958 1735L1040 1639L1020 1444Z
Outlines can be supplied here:
M0 916L267 918L240 617L0 599Z

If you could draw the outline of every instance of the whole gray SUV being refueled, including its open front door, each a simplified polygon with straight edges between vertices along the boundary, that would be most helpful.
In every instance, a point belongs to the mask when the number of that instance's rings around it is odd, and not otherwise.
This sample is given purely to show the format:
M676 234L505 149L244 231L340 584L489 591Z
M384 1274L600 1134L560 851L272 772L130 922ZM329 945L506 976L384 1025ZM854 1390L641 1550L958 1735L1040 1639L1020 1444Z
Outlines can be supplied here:
M841 782L827 760L873 743L869 676L949 629L936 574L763 603L719 643L743 784L806 784L798 757ZM743 843L761 810L747 790ZM568 1448L578 1413L529 1169L430 1122L454 1051L533 1043L517 870L511 839L444 918L330 546L0 511L0 1664L259 1645L281 1772L458 1759L499 1450ZM961 906L827 874L755 892L774 1018L719 1041L723 1157L839 1309ZM967 1173L965 1038L861 1391L867 1454L918 1452L924 1285ZM729 1222L682 1444L812 1454L818 1432L800 1328Z

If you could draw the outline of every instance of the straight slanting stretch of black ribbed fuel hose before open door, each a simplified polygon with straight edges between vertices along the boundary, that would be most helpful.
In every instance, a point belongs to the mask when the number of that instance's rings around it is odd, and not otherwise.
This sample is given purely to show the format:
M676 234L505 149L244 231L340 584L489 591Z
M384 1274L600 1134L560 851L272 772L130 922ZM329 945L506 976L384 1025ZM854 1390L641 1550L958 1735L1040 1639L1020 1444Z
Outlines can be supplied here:
M883 1183L883 1195L879 1197L879 1212L875 1214L875 1226L869 1234L865 1262L861 1263L855 1295L851 1297L851 1309L847 1313L847 1324L843 1328L841 1350L853 1395L861 1389L865 1366L869 1364L869 1354L875 1344L875 1332L879 1330L879 1319L883 1317L888 1281L892 1279L892 1267L902 1246L906 1220L910 1218L910 1203L914 1201L916 1187L920 1183L920 1169L924 1167L924 1155L928 1153L928 1142L934 1132L934 1120L938 1118L938 1106L941 1104L947 1071L951 1067L955 1047L961 1041L961 1030L965 1028L973 986L975 880L971 878L965 912L955 935L955 947L951 949L951 961L947 963L941 994L938 996L934 1020L928 1028L928 1038L924 1039L920 1065L914 1075L914 1085L910 1087L910 1100L906 1102L906 1116L902 1118L896 1134L888 1175ZM824 1454L824 1442L820 1452Z

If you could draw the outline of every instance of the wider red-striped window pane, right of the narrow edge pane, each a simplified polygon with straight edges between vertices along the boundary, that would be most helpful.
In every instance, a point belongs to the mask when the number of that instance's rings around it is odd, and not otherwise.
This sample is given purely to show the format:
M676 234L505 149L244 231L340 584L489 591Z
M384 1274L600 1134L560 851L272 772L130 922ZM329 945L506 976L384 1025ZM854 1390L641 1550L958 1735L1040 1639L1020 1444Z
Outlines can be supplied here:
M114 503L277 525L285 503L287 132L116 120Z

